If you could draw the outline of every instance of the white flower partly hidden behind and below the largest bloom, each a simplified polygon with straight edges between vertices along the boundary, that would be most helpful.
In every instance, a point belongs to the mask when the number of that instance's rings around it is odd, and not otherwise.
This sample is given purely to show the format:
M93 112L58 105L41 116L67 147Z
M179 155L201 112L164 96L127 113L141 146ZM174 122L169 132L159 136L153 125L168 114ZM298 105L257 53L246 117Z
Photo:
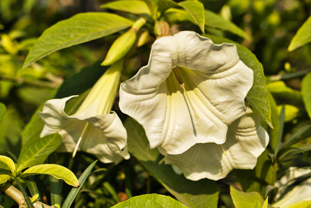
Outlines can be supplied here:
M221 146L217 144L196 144L180 155L165 155L166 164L178 166L190 180L209 178L219 180L226 177L233 168L251 169L257 163L257 157L269 142L267 132L260 126L260 115L251 112L229 126L227 140Z

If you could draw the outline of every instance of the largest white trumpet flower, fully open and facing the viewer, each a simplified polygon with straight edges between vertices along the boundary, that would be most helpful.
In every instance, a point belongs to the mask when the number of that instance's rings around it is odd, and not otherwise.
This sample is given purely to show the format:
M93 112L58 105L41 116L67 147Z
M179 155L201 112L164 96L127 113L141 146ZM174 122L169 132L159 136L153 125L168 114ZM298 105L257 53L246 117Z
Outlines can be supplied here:
M144 127L151 148L179 155L195 144L224 144L252 84L235 44L183 31L154 42L148 65L121 84L119 107Z

